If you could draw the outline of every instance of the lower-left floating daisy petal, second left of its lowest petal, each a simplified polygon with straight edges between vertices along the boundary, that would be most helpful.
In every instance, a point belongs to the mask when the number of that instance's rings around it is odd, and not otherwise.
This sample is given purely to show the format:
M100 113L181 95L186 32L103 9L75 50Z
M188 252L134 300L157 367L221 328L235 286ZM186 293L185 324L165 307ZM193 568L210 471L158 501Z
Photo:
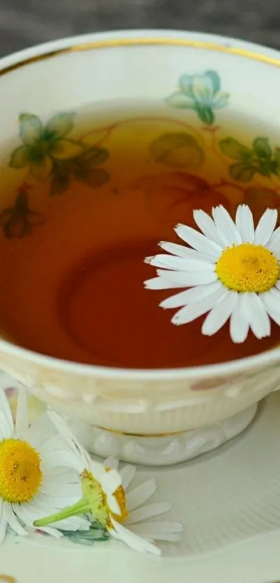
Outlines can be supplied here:
M214 306L218 306L219 302L228 294L227 288L220 284L220 287L213 293L210 293L204 299L197 301L195 304L190 304L190 306L183 306L181 310L176 312L172 318L172 324L176 326L181 326L182 324L188 324L199 318L199 316L205 314L211 310Z

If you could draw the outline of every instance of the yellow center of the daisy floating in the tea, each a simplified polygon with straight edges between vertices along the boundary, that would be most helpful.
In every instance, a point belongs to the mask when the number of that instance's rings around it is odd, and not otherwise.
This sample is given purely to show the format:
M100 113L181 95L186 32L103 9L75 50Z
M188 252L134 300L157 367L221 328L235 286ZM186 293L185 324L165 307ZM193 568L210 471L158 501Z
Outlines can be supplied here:
M230 290L263 293L277 283L279 263L263 245L242 243L224 249L217 261L216 273Z

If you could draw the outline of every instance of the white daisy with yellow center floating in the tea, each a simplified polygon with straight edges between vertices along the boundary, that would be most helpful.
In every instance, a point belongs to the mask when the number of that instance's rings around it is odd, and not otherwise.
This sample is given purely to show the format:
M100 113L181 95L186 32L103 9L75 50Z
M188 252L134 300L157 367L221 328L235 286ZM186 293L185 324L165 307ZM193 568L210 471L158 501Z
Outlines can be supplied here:
M150 290L188 288L161 302L180 308L176 325L207 313L202 334L213 336L230 320L234 343L246 340L249 329L256 338L270 336L270 318L280 326L280 227L277 210L267 208L256 229L249 207L238 206L233 221L223 206L194 211L199 231L178 224L175 231L186 245L162 241L168 254L147 257L157 277L145 281ZM275 230L274 230L275 229Z

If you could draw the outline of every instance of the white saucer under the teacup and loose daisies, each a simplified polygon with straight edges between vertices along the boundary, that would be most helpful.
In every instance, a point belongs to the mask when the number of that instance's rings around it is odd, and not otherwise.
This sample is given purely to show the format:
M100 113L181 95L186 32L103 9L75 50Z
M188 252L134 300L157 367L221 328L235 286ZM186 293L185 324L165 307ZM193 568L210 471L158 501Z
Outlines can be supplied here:
M1 385L10 386L3 377ZM31 397L33 415L38 404ZM170 468L140 467L155 477L155 500L173 504L181 542L158 559L117 541L74 543L42 534L9 535L0 546L0 583L269 583L280 579L280 393L261 403L241 436ZM98 533L92 533L98 534ZM90 543L85 545L86 543ZM2 578L1 578L2 577Z

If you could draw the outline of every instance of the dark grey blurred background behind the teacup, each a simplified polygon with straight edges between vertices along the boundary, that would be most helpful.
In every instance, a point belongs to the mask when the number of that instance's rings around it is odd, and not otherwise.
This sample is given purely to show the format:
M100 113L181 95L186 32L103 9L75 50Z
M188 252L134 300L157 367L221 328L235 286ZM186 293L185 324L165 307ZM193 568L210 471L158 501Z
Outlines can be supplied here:
M280 0L0 0L0 56L120 28L179 28L280 49Z

